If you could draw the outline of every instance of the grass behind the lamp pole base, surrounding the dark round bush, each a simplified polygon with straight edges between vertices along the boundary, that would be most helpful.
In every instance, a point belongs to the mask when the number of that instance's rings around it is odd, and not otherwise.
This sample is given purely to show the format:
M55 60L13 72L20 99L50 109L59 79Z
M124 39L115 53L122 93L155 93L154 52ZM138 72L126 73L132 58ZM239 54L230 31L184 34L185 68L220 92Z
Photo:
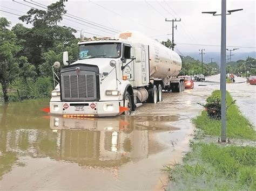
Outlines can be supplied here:
M212 95L220 96L220 90L213 91ZM226 117L227 137L256 140L256 132L253 130L252 124L241 114L237 105L231 105L233 99L228 92L226 93L226 101L226 105L230 105ZM221 121L208 118L206 111L202 111L201 115L192 121L196 128L204 131L205 135L220 136Z

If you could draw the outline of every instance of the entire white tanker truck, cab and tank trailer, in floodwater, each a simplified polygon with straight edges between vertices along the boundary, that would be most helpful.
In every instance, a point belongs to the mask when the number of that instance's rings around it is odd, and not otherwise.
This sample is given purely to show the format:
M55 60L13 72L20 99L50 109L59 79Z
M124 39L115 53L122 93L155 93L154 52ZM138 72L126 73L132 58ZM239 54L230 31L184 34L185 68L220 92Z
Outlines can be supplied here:
M180 56L134 31L79 41L78 60L63 53L60 83L52 91L50 113L63 117L131 115L142 103L163 100L162 90L184 91ZM54 67L59 67L55 62ZM53 76L55 72L53 71Z

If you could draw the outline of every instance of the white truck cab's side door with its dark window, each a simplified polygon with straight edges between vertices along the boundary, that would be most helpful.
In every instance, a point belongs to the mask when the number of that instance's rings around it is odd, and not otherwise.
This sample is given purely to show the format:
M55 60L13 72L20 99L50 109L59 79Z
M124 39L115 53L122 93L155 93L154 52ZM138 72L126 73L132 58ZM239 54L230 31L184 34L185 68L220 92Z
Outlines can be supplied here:
M132 51L131 51L131 46L130 45L126 45L124 44L123 46L123 66L125 66L128 62L131 61L131 57L133 55L132 54ZM126 76L127 77L127 80L129 81L133 81L134 80L134 74L133 74L133 61L131 63L129 63L129 65L127 65L124 70L123 70L123 76Z

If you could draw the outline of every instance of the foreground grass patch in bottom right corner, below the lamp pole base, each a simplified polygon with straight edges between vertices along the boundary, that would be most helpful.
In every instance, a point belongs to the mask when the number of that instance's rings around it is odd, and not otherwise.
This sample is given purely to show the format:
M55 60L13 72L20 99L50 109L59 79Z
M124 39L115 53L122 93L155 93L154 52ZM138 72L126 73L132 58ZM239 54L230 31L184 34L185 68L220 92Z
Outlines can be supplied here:
M193 143L184 163L165 166L171 190L255 190L256 148Z

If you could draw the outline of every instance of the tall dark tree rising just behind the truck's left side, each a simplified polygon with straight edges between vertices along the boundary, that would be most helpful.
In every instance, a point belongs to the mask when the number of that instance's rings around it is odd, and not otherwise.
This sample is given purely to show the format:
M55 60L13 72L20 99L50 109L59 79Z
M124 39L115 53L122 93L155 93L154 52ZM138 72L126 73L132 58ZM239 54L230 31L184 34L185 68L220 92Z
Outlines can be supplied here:
M75 29L66 26L58 26L66 13L63 1L53 3L46 10L30 9L26 15L19 17L23 22L32 24L32 29L17 24L12 29L21 39L20 44L25 48L20 55L26 56L29 63L36 68L45 62L43 53L50 51L55 45L69 46L75 38ZM52 63L53 64L53 63ZM39 72L39 70L37 70Z

